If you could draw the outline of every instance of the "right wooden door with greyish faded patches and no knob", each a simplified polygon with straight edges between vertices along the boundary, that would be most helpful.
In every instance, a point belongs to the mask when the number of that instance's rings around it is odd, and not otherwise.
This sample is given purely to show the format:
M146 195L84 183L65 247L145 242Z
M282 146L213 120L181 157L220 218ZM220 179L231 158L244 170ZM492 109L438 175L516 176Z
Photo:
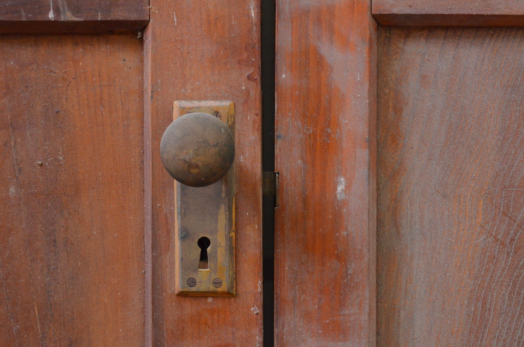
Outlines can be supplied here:
M277 20L276 345L524 345L522 3Z

